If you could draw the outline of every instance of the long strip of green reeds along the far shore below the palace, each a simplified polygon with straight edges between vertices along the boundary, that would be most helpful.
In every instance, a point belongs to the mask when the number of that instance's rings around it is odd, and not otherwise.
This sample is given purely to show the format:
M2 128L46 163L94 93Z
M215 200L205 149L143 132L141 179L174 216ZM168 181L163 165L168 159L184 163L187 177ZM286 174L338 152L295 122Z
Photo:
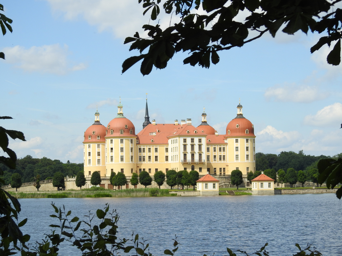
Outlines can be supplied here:
M86 197L150 197L150 191L155 188L130 188L121 190L110 189L82 189L65 191L37 191L37 192L14 192L9 191L15 198L86 198ZM152 193L154 196L173 196L169 194L169 189L158 189L158 193Z

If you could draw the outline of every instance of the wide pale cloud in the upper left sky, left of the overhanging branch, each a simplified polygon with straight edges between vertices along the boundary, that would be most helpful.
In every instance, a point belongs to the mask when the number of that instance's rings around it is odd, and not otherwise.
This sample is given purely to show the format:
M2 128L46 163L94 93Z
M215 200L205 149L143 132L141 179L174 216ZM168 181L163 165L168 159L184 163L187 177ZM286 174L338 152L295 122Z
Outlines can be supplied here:
M16 45L14 47L5 47L2 51L5 52L8 63L29 72L63 75L68 71L86 68L84 63L70 67L67 60L69 55L67 45L64 45L64 47L59 44L32 46L29 49Z

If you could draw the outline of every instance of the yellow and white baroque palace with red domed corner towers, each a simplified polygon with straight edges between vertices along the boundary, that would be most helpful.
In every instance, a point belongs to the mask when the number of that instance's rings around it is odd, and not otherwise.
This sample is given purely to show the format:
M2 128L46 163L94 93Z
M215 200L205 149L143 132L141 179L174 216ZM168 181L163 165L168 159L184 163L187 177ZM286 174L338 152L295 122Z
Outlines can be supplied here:
M123 105L105 127L96 111L95 123L84 132L84 174L94 171L101 176L111 172L131 173L147 171L196 170L200 175L229 175L239 169L242 174L255 171L255 135L252 123L237 106L237 116L228 123L226 134L218 134L202 113L199 126L191 119L174 124L149 121L147 99L143 129L136 134L133 123L124 117Z

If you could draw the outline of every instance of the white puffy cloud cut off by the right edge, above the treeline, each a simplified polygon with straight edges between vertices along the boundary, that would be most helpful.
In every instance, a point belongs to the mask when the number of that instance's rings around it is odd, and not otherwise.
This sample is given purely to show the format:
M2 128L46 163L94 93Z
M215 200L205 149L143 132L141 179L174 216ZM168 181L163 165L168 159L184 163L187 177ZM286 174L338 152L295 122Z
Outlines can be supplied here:
M304 117L304 124L313 126L338 126L342 122L342 104L336 102L318 110L316 115Z

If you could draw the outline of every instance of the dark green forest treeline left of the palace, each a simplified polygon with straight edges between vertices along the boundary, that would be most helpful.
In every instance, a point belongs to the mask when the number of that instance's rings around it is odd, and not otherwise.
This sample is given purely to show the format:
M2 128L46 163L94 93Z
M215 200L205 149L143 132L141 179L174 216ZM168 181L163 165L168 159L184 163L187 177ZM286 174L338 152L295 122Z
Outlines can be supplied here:
M64 176L75 176L79 171L83 171L83 163L71 163L69 160L63 163L56 159L52 160L47 157L33 158L27 155L17 159L14 170L9 169L2 163L0 163L0 168L4 171L2 179L4 179L6 185L9 185L13 173L19 173L22 176L23 183L33 182L38 174L40 180L52 179L56 172L62 172Z

